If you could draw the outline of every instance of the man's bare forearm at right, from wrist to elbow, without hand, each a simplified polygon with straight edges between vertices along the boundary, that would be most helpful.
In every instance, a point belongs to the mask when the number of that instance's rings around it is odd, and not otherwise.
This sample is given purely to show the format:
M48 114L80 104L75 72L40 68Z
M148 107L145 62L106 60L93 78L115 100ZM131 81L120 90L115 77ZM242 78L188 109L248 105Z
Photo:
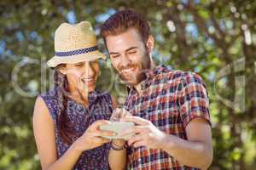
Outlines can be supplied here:
M212 147L201 141L189 141L166 134L160 149L189 167L207 169L212 163Z

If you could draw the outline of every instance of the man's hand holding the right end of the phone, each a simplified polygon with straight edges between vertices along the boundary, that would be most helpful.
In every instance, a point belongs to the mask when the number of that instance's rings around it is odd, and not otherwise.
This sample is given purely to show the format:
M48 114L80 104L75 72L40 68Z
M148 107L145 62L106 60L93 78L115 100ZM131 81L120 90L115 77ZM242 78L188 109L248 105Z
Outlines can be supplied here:
M125 129L121 135L136 133L128 140L129 145L134 147L147 146L150 149L160 149L164 143L166 133L161 132L154 124L138 116L125 116L121 122L134 122L135 127Z

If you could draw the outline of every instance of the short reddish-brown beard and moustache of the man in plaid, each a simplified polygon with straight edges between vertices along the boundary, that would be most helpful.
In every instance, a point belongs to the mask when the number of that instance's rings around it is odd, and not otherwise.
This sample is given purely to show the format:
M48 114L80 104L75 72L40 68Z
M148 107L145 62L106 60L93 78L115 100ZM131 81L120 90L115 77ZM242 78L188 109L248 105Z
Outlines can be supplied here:
M133 77L133 80L135 81L130 81L129 79L126 79L125 76L123 76L123 74L121 73L122 70L124 70L125 68L131 68L131 67L135 67L137 66L137 64L130 64L127 65L125 67L120 67L119 71L116 71L119 75L119 77L125 82L126 85L128 86L136 86L137 84L139 84L140 82L143 82L147 76L146 73L150 70L151 68L151 60L150 60L150 56L149 54L145 53L143 56L143 61L141 61L140 63L140 71L138 74L135 74Z

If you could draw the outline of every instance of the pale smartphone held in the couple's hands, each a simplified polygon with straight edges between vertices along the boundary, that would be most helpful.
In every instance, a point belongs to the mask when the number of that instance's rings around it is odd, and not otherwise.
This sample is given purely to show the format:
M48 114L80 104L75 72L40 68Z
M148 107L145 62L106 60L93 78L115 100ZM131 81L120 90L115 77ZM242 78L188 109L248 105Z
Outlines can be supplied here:
M128 140L134 135L134 133L129 133L125 136L120 136L119 134L122 133L125 130L125 128L130 128L130 127L133 127L133 126L135 126L134 122L111 122L108 125L100 126L100 129L117 133L116 136L102 136L103 138Z

